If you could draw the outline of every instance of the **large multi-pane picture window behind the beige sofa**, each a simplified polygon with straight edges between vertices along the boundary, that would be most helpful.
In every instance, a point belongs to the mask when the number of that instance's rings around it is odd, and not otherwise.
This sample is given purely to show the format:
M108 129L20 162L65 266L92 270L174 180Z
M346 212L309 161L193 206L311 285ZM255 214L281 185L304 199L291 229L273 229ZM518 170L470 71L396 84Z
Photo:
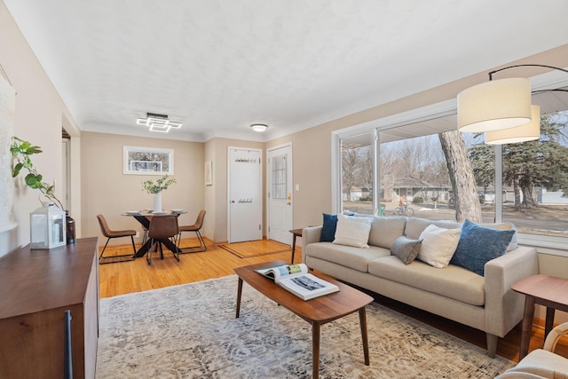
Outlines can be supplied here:
M491 146L482 135L461 134L461 138L484 222L511 222L519 233L537 238L567 237L568 110L564 109L568 99L558 97L568 94L556 95L556 102L538 96L533 95L533 103L540 100L544 110L540 140ZM556 110L550 111L551 103ZM377 122L364 130L338 133L337 210L389 217L400 214L403 207L403 214L411 209L408 216L455 219L454 188L438 137L455 130L455 115L441 113L431 119Z

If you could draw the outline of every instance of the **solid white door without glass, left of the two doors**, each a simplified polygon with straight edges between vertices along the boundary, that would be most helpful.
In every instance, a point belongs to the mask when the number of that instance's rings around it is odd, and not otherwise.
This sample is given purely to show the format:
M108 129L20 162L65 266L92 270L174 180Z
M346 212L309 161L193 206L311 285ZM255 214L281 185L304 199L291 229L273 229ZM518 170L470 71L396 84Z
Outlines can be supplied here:
M261 153L229 147L227 238L231 243L263 239Z

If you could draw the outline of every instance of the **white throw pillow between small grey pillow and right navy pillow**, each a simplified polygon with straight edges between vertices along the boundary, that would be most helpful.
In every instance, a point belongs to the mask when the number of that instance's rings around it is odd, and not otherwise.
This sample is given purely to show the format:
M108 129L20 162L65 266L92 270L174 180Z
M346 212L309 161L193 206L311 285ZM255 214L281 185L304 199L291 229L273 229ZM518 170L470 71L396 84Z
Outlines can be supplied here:
M446 229L428 225L420 234L422 247L416 259L437 268L447 267L460 242L460 233L461 228Z

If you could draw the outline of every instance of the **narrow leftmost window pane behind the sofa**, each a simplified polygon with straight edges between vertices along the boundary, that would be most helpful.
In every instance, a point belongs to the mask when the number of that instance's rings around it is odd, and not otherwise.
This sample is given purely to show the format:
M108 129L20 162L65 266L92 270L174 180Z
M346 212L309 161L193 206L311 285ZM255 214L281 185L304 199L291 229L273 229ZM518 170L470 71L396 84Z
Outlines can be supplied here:
M373 214L373 133L341 140L342 209Z

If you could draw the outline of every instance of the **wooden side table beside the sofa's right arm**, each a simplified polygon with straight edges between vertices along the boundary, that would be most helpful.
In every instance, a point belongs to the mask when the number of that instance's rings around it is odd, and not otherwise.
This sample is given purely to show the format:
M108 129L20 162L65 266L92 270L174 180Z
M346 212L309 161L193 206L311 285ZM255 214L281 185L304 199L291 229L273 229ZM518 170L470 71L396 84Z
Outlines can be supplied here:
M533 331L534 304L547 307L544 328L544 338L546 338L553 327L555 310L568 312L568 279L549 275L533 275L518 280L511 288L526 296L521 347L518 352L518 360L521 360L529 351Z

